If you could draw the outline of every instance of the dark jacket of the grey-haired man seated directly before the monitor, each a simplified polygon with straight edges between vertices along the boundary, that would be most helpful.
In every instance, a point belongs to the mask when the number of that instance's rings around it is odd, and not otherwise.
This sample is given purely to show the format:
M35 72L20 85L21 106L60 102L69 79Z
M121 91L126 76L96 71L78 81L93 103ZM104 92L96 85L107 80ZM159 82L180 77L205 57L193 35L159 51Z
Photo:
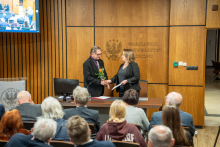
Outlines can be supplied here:
M65 115L63 119L69 119L74 115L79 115L84 118L88 123L94 124L96 132L100 129L99 111L88 109L87 107L76 107L71 109L64 109Z

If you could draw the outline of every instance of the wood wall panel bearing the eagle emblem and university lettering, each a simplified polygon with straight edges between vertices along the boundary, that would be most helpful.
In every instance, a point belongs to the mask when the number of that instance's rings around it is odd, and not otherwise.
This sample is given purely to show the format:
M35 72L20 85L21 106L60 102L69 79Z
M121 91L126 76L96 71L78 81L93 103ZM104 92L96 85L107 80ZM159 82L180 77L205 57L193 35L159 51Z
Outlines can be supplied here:
M123 63L123 49L133 49L141 79L149 83L168 83L168 27L98 27L95 44L102 49L102 59L109 78ZM112 50L112 52L110 52Z

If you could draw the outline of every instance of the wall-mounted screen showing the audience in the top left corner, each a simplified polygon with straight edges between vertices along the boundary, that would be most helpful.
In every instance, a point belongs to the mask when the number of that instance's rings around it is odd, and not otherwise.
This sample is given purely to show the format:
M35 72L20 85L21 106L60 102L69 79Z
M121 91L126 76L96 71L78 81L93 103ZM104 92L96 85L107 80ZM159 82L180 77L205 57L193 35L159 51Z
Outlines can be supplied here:
M0 32L39 33L39 0L0 0Z

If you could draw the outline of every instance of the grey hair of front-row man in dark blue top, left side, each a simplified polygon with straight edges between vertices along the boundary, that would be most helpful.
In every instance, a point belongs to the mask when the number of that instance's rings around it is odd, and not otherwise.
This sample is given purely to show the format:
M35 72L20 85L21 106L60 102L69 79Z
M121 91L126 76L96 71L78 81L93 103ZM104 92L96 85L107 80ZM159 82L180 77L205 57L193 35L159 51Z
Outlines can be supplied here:
M31 134L35 138L47 142L50 138L53 138L56 129L57 123L53 119L39 117Z

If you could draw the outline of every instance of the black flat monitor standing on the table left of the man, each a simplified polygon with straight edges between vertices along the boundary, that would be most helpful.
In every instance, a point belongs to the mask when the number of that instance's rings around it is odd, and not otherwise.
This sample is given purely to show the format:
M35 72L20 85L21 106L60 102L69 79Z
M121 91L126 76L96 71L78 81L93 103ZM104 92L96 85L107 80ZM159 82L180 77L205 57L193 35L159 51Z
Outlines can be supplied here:
M54 78L55 95L71 95L76 86L79 85L79 80Z

